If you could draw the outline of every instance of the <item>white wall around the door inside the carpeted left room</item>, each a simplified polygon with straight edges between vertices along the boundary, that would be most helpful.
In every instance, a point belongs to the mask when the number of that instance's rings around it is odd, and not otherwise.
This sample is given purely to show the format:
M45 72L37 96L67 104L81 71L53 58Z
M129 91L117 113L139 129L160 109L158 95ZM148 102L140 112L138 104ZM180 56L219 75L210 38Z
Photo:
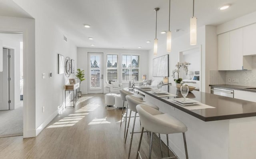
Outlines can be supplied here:
M19 34L0 34L0 39L3 41L3 46L14 49L14 101L15 105L20 104L20 42L23 41L23 36ZM0 81L2 82L2 81Z

